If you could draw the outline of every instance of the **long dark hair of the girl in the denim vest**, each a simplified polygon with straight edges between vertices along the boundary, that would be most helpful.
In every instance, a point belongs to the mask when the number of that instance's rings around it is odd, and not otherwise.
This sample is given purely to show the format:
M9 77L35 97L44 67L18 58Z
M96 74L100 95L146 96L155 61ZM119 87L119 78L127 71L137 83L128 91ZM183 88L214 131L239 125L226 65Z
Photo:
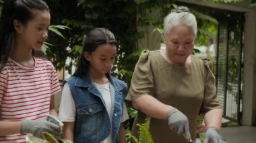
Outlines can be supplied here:
M88 52L90 54L94 52L94 50L96 50L96 48L101 44L111 44L117 46L117 41L115 40L114 34L108 29L94 28L84 35L84 48L77 63L75 73L73 73L74 76L82 77L88 73L90 62L84 58L84 52Z

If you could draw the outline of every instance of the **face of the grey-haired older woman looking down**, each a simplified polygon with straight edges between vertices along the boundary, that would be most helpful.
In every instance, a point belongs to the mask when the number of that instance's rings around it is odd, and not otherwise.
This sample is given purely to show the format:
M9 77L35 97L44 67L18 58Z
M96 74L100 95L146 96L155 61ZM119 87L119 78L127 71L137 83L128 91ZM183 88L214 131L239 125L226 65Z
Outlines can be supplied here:
M194 41L195 34L190 27L184 24L172 27L164 34L167 58L175 64L185 64L193 52Z

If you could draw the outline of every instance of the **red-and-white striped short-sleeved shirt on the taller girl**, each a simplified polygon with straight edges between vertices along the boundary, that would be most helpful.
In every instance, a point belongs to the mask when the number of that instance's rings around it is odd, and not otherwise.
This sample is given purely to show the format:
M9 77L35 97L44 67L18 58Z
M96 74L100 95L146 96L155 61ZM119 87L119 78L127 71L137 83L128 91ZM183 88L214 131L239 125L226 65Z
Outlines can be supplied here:
M49 60L34 57L34 66L9 58L0 73L0 120L36 120L49 114L51 95L61 91ZM0 136L0 142L25 142L25 136Z

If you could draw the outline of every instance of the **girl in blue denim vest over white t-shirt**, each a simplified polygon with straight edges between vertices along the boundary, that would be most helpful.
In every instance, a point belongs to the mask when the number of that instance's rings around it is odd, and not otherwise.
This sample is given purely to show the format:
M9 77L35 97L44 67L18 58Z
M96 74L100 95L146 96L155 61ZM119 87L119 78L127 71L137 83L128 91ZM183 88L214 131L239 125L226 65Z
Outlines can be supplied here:
M95 28L84 37L77 69L63 83L59 118L65 139L125 142L122 122L129 118L124 103L127 85L110 75L116 53L117 41L106 28Z

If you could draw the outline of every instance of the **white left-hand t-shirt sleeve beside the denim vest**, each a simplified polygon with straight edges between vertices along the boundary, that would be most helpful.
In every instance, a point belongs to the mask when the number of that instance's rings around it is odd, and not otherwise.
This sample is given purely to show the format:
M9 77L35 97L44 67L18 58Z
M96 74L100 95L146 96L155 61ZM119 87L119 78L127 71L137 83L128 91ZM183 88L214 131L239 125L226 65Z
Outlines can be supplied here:
M61 105L59 107L59 120L61 122L75 122L75 102L68 84L63 87Z

